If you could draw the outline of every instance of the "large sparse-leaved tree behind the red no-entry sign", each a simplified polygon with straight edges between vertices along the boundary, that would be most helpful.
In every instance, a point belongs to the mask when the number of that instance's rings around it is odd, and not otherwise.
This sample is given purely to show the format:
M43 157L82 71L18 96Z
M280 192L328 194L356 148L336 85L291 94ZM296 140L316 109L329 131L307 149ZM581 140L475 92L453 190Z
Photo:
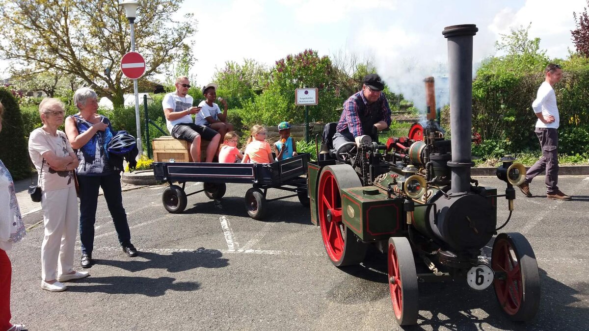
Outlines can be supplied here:
M143 80L188 54L184 39L196 32L191 14L172 15L182 0L140 1L135 45L147 63ZM79 77L115 107L133 81L119 64L130 51L130 29L117 0L0 0L0 54L32 74L55 70Z

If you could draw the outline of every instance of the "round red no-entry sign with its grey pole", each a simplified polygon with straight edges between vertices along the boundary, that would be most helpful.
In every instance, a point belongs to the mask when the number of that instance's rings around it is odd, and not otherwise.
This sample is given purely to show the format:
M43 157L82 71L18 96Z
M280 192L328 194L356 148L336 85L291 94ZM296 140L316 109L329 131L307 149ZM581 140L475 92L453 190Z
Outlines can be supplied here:
M135 124L137 127L137 150L138 157L143 155L143 146L141 144L141 123L139 117L139 94L137 87L137 79L145 73L145 59L141 54L135 52L135 40L133 35L133 24L131 24L131 51L123 55L121 58L121 71L125 77L133 80L133 90L135 93ZM149 144L149 143L148 143Z

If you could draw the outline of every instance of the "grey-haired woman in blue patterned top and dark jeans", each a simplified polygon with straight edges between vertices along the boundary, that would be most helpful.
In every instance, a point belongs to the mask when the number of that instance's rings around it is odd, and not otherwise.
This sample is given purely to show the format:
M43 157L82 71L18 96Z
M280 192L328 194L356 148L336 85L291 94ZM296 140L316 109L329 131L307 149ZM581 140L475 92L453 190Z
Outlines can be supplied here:
M72 147L78 150L77 157L80 165L76 173L80 185L80 241L82 242L80 264L83 268L90 268L94 264L92 260L94 223L100 187L104 192L108 211L112 216L123 251L128 256L134 257L137 256L137 250L131 244L127 214L123 208L121 175L109 163L105 148L114 135L110 120L97 114L97 95L90 88L83 87L75 91L74 104L80 112L65 120L65 132Z

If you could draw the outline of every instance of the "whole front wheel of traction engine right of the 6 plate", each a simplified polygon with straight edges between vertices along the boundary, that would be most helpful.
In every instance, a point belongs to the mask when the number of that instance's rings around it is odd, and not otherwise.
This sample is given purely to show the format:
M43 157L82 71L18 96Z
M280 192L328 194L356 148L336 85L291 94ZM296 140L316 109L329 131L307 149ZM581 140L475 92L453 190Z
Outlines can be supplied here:
M540 305L540 274L528 240L517 232L499 234L493 244L491 266L505 274L493 282L499 306L511 320L532 319Z

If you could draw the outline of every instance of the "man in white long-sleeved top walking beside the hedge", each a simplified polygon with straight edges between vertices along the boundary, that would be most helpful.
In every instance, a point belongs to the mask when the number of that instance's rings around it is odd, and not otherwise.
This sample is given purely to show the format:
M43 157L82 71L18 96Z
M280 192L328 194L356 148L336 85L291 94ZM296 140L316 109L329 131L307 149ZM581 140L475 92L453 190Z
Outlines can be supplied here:
M562 69L558 64L548 64L544 69L545 80L538 88L536 100L532 102L534 113L538 117L536 122L535 133L540 140L542 148L542 157L536 161L534 166L528 169L525 174L525 181L519 186L519 189L527 197L532 197L530 193L530 183L532 179L542 172L546 172L546 197L554 200L571 200L570 196L562 193L558 189L558 107L556 105L556 94L554 93L554 84L562 78Z

